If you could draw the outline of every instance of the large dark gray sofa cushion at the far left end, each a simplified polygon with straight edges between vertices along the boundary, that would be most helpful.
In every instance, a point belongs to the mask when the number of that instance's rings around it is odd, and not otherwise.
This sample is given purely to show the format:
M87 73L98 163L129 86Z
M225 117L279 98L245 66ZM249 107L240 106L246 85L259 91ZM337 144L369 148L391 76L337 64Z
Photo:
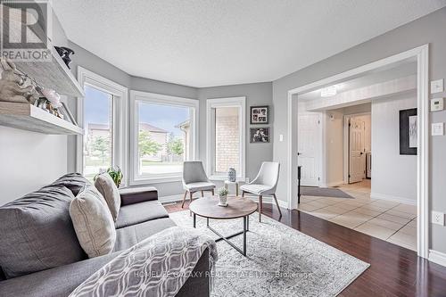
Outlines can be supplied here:
M6 278L85 260L70 219L74 198L66 187L52 185L0 207L0 266Z

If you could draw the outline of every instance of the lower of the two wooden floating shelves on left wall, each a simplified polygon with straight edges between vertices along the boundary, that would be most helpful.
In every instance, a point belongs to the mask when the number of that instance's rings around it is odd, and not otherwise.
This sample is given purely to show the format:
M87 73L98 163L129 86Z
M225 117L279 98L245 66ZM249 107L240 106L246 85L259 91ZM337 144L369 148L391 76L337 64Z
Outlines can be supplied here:
M44 134L84 134L82 128L29 103L0 102L0 125Z

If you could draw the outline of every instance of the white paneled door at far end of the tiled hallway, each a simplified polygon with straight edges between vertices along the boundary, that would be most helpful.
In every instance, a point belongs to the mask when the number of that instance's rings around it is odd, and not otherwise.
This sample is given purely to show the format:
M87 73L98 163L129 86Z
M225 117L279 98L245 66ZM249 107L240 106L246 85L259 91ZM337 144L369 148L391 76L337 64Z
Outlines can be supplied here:
M349 183L361 181L366 174L366 154L365 154L365 123L359 118L350 120L349 136Z

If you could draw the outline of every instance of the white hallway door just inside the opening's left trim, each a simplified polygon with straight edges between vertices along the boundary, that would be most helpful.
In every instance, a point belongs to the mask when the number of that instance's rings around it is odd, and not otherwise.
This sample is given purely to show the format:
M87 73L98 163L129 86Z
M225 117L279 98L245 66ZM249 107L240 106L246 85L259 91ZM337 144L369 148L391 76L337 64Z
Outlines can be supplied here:
M297 125L301 185L319 186L320 116L318 113L300 113Z

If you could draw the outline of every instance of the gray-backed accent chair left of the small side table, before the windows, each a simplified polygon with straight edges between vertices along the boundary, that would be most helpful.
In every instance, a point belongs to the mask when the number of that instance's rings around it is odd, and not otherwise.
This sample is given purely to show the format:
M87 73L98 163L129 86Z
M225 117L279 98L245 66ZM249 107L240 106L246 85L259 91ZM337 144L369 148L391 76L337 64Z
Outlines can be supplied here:
M204 168L202 167L202 161L185 161L183 165L183 188L186 190L183 197L183 204L185 206L187 193L190 194L191 202L193 200L192 194L198 191L202 191L202 197L204 191L211 191L214 194L215 185L211 183Z

